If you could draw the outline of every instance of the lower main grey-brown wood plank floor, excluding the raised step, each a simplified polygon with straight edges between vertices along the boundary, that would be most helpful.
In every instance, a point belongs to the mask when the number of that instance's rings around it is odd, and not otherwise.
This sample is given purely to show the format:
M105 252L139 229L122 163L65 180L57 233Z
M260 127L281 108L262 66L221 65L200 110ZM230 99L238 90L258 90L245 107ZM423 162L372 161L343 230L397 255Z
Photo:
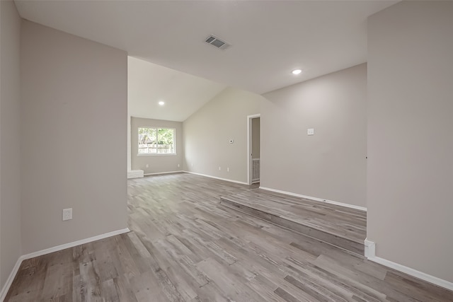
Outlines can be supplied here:
M25 260L6 301L453 301L219 203L256 187L185 173L128 185L130 233Z

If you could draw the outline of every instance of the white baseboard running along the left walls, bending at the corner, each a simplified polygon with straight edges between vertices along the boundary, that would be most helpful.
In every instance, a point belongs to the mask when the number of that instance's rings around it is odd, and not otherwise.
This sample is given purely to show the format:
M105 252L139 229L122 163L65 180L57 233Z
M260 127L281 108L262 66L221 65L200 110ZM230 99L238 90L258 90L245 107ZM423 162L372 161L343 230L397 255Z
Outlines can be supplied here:
M18 258L18 260L16 262L16 265L14 265L14 268L11 271L11 274L9 274L5 285L3 286L3 289L1 289L0 301L3 302L5 297L6 297L6 294L8 294L8 290L11 287L11 284L13 283L14 277L16 277L16 274L17 274L17 272L19 270L19 267L21 267L21 263L23 262L23 260L27 260L27 259L30 259L30 258L34 258L34 257L50 254L51 252L58 252L59 250L64 250L66 248L74 248L74 246L77 246L77 245L81 245L81 244L84 244L84 243L90 243L90 242L93 242L93 241L96 241L96 240L101 240L101 239L104 239L104 238L108 238L108 237L112 237L112 236L116 236L116 235L120 235L120 234L128 233L128 232L130 232L129 228L123 228L122 230L117 230L117 231L101 234L101 235L98 235L98 236L94 236L94 237L90 237L90 238L86 238L86 239L82 239L82 240L73 241L71 243L65 243L65 244L62 244L62 245L57 245L57 246L55 246L53 248L46 248L45 250L38 250L37 252L30 252L30 254L22 255L21 257Z

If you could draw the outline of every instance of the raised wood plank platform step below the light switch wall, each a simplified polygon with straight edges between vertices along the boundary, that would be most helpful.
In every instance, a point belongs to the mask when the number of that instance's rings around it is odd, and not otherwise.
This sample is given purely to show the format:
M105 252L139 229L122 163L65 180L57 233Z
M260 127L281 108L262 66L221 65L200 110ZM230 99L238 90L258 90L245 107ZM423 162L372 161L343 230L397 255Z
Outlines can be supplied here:
M260 189L229 194L220 199L226 207L364 255L366 211Z

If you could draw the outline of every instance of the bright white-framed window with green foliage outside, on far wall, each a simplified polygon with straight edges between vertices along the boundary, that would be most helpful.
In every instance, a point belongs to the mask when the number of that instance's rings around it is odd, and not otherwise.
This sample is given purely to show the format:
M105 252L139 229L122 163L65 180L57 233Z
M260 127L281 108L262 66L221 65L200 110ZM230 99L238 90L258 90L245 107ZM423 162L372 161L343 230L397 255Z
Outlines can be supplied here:
M175 129L139 128L139 154L175 153Z

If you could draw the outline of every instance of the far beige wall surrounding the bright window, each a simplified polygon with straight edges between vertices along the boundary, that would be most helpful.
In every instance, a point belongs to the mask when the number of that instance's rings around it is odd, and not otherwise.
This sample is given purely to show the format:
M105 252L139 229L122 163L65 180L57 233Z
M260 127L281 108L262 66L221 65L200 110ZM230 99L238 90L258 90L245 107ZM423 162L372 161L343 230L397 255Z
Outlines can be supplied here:
M162 127L176 129L176 155L142 155L138 156L139 127ZM132 170L144 170L144 174L166 173L183 170L183 123L166 120L152 120L132 117L131 124ZM147 168L146 165L149 165Z

